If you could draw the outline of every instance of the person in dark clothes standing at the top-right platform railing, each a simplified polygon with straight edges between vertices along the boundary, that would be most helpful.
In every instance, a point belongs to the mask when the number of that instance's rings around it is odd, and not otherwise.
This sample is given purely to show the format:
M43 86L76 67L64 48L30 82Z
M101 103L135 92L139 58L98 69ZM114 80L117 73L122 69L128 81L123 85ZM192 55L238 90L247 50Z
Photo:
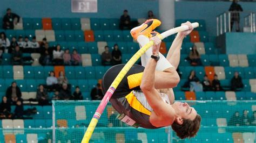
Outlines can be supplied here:
M233 25L237 26L235 28L235 31L239 32L240 31L240 14L239 12L242 11L242 7L240 4L238 4L237 0L233 0L233 3L230 5L230 9L228 11L231 11L231 31L233 28Z

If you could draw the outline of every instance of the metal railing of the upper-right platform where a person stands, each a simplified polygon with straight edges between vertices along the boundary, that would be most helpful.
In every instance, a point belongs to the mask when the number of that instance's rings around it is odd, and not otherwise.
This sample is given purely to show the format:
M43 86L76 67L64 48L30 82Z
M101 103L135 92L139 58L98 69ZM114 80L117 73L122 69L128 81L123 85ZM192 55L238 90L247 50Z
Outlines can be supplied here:
M244 20L242 20L244 19ZM216 17L217 36L226 32L232 32L232 27L239 32L255 32L255 13L254 12L235 12L226 11ZM242 27L242 30L240 28Z

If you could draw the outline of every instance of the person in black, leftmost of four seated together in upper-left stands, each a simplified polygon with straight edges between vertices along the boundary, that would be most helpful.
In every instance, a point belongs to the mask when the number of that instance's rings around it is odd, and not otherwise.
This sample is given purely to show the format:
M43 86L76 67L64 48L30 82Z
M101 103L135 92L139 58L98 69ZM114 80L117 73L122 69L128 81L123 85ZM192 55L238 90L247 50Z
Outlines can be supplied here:
M49 47L48 43L41 47L41 56L39 58L39 63L42 66L48 66L52 63L52 49Z

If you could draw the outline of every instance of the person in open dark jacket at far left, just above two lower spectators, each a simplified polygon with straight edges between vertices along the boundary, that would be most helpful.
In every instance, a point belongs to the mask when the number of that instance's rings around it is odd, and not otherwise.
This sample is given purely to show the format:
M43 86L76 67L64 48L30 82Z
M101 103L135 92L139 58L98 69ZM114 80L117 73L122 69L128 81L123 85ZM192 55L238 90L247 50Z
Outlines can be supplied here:
M11 101L13 104L16 104L16 102L21 99L21 89L17 86L17 83L14 81L11 83L11 86L7 88L6 90L6 97L9 101Z

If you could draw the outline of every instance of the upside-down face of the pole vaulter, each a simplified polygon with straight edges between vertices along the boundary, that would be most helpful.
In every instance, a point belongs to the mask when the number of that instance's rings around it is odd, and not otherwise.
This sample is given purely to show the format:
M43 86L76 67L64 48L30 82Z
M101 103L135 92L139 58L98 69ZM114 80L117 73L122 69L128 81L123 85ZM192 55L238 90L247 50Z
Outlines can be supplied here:
M172 104L173 109L177 113L177 120L182 119L190 119L194 120L197 116L197 111L192 108L190 105L188 105L186 102L174 102Z

